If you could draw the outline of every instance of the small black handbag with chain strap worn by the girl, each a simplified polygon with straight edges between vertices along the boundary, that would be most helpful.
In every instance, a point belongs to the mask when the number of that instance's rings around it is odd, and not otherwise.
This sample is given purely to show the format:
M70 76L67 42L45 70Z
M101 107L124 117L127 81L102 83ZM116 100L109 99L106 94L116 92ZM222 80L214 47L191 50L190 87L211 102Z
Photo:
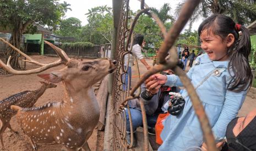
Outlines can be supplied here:
M211 71L210 73L208 73L208 75L206 75L206 77L195 87L195 89L197 89L199 86L201 86L212 74L217 75L218 77L220 76L220 69L216 68L213 71ZM172 94L177 94L175 92L171 92ZM183 110L184 106L185 106L185 98L188 96L188 94L185 97L182 97L180 94L178 95L173 95L173 97L171 98L171 100L169 100L171 102L171 105L168 106L168 113L170 113L171 115L179 115L179 113L181 113L181 111ZM168 103L168 102L167 102Z

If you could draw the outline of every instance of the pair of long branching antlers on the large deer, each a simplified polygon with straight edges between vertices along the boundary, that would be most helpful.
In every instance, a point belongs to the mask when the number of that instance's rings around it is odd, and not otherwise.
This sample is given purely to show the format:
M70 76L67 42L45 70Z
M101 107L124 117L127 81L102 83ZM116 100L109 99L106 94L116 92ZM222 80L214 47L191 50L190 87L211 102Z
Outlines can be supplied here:
M14 50L16 50L18 53L20 53L21 55L23 55L24 57L26 57L28 59L27 62L30 63L34 63L35 65L39 65L42 66L40 68L36 68L36 69L31 69L28 71L17 71L15 69L12 68L12 66L10 66L10 57L7 61L7 65L3 63L2 60L0 60L0 66L3 67L4 69L6 69L6 71L13 73L13 74L32 74L32 73L40 73L42 71L45 71L48 68L52 68L61 64L66 65L66 63L70 60L70 58L68 57L68 55L60 48L56 47L55 45L53 45L52 43L49 43L47 41L45 41L45 43L47 43L48 45L50 45L50 47L56 51L56 53L58 54L58 56L60 57L60 59L58 61L52 62L52 63L48 63L48 64L43 64L40 62L35 61L34 59L32 59L31 57L29 57L28 55L22 53L19 49L15 48L12 44L6 42L6 40L0 38L0 40L2 40L4 43L8 44L10 47L12 47Z

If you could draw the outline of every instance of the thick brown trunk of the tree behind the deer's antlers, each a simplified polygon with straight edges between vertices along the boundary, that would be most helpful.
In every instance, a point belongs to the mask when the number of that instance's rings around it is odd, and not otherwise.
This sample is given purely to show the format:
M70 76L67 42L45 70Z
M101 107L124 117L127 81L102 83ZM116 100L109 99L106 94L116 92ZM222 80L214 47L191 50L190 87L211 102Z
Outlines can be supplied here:
M23 24L22 24L21 20L19 20L19 19L14 19L14 22L16 22L14 24L16 26L13 27L12 36L10 37L9 43L14 45L14 47L20 49L21 38L22 38L22 33L23 33ZM7 49L6 61L8 60L9 56L12 56L10 59L10 65L14 69L20 69L20 65L19 65L19 61L18 61L19 54L10 47L8 47L8 49Z

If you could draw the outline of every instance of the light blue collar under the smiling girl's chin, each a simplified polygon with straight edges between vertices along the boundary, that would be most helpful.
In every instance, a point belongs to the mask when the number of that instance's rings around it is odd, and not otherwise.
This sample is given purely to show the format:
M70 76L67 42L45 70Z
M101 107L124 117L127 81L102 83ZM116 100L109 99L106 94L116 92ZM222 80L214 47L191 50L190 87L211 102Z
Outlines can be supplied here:
M216 68L227 68L228 67L228 62L230 62L230 61L229 60L227 60L227 61L211 61L207 54L201 54L199 56L199 62L200 63L210 63L210 62L213 62L213 65Z

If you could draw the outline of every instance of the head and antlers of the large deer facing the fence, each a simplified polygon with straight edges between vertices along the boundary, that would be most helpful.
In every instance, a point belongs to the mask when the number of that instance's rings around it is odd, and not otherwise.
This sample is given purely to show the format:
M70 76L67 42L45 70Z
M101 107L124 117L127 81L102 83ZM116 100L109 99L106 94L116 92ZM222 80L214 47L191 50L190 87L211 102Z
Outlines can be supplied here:
M10 66L10 57L7 61L7 65L0 60L0 66L6 69L9 73L13 74L32 74L32 73L40 73L42 71L45 71L48 68L52 68L58 65L65 65L66 67L55 71L52 73L46 73L46 74L40 74L39 77L49 80L52 83L59 83L62 80L67 80L67 82L77 83L78 81L82 80L82 82L85 82L86 80L92 79L91 82L94 83L95 81L99 81L103 77L105 77L106 74L112 73L115 70L116 61L110 61L106 59L96 59L94 61L78 61L75 59L70 59L68 55L60 48L56 47L50 42L45 41L46 44L50 45L50 47L53 48L53 50L56 51L57 55L59 56L59 60L44 64L35 61L28 55L21 52L19 49L15 48L12 44L6 42L6 40L0 38L4 43L8 44L10 47L12 47L15 51L26 57L28 60L23 60L26 62L33 63L35 65L41 66L40 68L31 69L28 71L17 71L13 69ZM92 70L94 69L94 70ZM90 76L94 73L95 76ZM92 74L91 74L92 73ZM82 75L83 74L83 75ZM80 76L82 75L82 76ZM86 76L87 75L87 76ZM77 78L77 79L76 79ZM88 83L88 81L86 81ZM80 83L81 84L81 83Z

